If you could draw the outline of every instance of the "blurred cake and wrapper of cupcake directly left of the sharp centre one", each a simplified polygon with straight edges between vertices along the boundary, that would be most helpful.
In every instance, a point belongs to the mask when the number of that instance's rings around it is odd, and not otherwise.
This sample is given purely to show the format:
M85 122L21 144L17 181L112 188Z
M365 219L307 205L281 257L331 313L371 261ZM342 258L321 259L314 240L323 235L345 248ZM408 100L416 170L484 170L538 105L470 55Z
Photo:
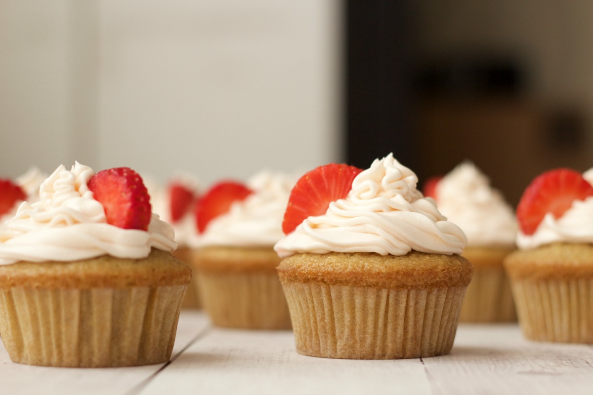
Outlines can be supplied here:
M291 329L276 272L279 261L271 247L213 246L198 251L195 281L212 323L237 329Z

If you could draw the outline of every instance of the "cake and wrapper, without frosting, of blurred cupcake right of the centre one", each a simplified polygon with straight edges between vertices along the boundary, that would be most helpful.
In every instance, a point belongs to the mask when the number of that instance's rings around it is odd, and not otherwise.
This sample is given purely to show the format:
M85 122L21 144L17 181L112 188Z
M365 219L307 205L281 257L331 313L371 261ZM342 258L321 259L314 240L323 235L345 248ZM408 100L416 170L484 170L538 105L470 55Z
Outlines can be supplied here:
M517 313L502 261L509 248L466 247L463 256L474 266L461 306L460 322L516 322Z

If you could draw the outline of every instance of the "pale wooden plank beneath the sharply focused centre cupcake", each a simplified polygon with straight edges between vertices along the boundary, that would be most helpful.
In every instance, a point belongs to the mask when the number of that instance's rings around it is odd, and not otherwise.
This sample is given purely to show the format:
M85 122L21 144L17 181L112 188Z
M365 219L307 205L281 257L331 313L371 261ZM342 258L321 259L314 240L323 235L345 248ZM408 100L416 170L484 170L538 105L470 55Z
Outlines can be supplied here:
M429 394L419 359L354 361L295 351L291 331L213 328L141 391L149 394Z

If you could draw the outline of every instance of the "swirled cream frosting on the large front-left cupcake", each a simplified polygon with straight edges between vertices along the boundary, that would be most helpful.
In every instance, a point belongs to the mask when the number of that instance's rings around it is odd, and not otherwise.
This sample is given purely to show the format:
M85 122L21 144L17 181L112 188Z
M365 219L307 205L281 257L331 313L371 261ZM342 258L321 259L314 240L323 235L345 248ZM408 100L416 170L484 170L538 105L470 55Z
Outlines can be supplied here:
M18 261L77 261L100 255L144 258L151 248L173 251L173 228L153 214L148 231L107 224L87 187L93 169L59 166L41 185L40 200L21 203L0 233L0 265Z

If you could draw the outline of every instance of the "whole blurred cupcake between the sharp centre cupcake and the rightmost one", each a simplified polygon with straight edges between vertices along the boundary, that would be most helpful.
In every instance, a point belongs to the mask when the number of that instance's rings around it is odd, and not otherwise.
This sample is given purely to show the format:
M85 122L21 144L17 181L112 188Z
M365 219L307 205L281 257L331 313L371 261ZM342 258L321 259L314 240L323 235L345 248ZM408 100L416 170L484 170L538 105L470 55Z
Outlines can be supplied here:
M426 188L428 187L428 188ZM463 256L474 266L461 306L461 322L517 320L502 260L515 249L517 220L502 194L473 163L463 162L425 185L447 220L467 236Z

